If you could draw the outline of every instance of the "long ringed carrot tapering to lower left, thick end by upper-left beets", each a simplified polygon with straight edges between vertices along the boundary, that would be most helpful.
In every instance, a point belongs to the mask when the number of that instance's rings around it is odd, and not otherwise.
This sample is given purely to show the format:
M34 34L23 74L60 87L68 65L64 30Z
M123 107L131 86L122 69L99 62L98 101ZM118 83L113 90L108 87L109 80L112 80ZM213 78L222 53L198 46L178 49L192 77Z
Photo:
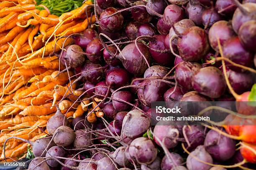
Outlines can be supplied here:
M63 43L65 40L66 40L66 38L61 38L61 39L57 40L57 42L56 42L56 40L53 40L53 41L49 42L46 46L44 46L40 50L37 50L30 57L28 57L24 60L29 60L29 59L39 56L39 55L42 55L42 56L49 55L51 52L54 51L55 44L56 44L55 52L59 52L61 50L61 47L63 46ZM67 45L70 45L72 42L73 42L72 38L68 38L67 41L65 42L64 47Z

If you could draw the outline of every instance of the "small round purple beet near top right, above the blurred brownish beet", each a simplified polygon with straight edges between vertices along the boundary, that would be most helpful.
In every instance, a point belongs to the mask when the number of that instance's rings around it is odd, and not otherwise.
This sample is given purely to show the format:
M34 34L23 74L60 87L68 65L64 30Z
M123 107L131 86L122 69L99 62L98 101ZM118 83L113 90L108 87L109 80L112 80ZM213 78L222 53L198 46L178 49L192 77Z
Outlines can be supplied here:
M202 13L202 24L211 27L217 21L222 20L222 16L214 8L204 10Z

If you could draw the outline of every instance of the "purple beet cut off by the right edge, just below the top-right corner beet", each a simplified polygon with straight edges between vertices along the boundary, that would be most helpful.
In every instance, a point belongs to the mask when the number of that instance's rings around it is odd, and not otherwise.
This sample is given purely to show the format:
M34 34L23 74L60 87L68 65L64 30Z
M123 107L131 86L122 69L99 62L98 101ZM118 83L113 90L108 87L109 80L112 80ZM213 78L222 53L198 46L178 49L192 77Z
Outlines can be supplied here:
M256 20L243 23L239 29L238 37L243 47L247 50L256 52Z

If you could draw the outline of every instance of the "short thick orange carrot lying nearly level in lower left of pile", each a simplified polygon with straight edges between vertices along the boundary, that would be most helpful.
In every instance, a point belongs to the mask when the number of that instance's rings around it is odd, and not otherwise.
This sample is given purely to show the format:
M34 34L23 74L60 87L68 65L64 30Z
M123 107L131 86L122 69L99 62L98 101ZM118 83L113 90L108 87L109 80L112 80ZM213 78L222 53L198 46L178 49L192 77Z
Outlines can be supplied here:
M56 107L50 107L51 103L47 103L45 105L39 105L39 106L28 106L25 110L20 112L20 115L26 116L26 115L48 115L50 113L56 112Z

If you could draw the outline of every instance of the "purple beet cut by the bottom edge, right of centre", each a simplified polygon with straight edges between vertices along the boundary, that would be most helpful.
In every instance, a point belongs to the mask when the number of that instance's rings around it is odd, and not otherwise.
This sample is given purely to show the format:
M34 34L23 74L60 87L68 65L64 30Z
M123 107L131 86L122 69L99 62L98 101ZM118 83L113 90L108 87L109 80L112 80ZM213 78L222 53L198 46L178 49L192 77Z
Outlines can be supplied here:
M183 158L177 153L168 153L170 160L165 155L161 162L161 170L170 170L175 167L175 165L182 165L184 163ZM175 163L172 162L175 161Z

